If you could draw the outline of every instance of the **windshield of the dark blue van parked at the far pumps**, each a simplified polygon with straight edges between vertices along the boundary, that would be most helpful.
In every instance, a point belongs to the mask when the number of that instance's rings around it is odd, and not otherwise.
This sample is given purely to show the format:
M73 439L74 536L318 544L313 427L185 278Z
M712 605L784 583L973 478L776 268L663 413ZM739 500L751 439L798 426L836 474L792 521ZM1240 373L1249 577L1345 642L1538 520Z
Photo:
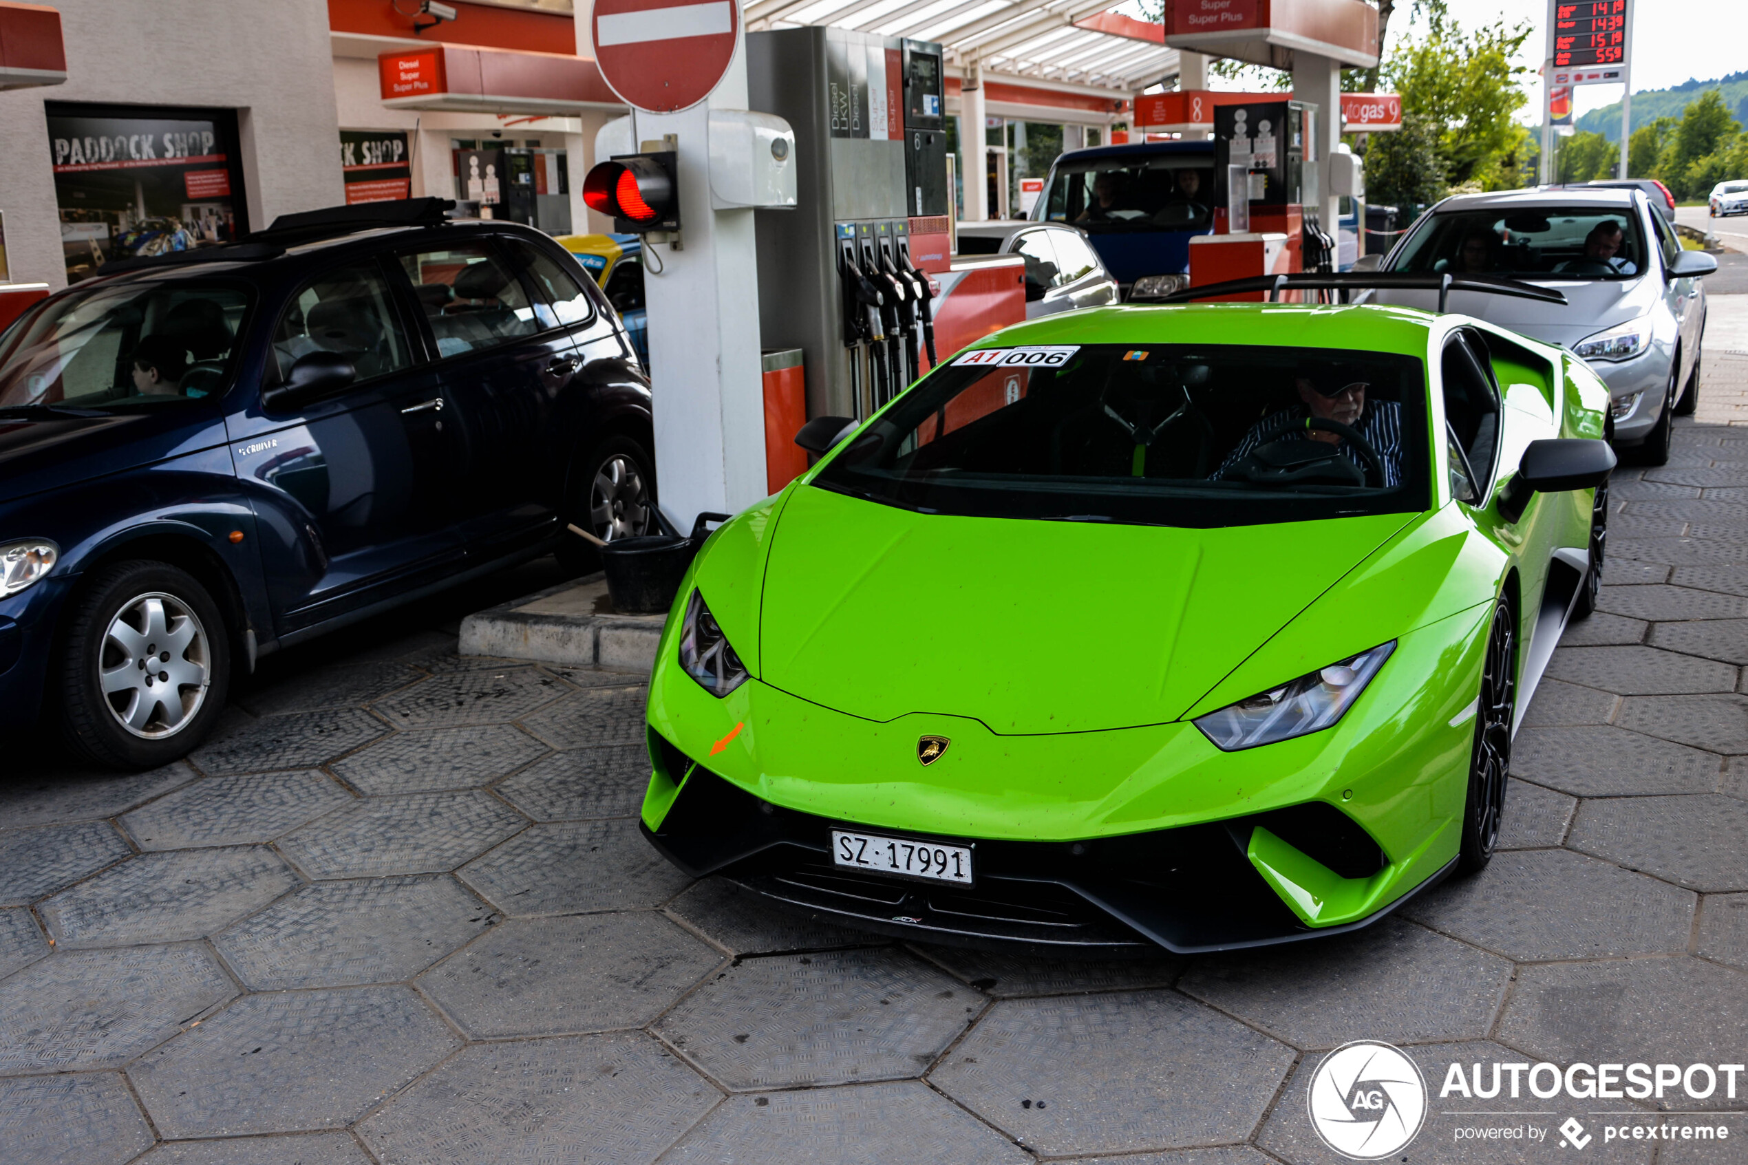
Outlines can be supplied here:
M1089 234L1201 231L1213 222L1213 162L1201 154L1058 162L1044 218Z

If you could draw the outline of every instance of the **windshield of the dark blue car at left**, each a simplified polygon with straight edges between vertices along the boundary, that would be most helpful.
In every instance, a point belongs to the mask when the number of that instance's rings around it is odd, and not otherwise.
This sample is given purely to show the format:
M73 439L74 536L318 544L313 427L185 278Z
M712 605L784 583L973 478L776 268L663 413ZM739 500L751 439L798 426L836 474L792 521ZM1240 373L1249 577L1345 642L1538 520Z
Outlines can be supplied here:
M239 286L101 283L0 335L0 409L164 407L217 395L248 307Z

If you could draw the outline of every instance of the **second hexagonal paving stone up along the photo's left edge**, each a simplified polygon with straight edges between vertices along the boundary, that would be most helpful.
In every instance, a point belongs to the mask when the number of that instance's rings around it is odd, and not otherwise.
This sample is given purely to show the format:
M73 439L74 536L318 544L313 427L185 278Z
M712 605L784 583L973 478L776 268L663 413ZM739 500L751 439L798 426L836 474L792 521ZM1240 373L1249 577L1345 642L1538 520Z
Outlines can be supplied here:
M42 959L0 983L0 1074L119 1067L236 994L199 943Z

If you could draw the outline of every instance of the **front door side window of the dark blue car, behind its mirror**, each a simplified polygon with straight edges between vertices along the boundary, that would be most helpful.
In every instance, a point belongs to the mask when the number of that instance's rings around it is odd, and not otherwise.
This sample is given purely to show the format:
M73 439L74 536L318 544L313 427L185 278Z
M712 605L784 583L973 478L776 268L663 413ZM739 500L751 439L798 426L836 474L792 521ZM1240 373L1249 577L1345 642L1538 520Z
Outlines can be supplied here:
M346 356L360 381L411 367L413 356L392 309L388 281L374 262L322 272L285 309L273 335L280 377L313 351Z

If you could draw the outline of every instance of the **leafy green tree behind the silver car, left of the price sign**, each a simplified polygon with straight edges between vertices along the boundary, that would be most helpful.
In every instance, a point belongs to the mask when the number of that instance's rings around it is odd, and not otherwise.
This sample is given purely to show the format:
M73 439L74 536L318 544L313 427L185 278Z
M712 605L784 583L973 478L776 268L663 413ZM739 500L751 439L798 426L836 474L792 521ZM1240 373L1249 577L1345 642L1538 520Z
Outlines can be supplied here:
M1512 58L1530 31L1503 23L1465 31L1433 10L1430 35L1391 52L1383 79L1402 94L1404 122L1412 115L1437 129L1446 182L1482 190L1519 185L1530 133L1512 115L1526 101L1521 77L1530 70Z

